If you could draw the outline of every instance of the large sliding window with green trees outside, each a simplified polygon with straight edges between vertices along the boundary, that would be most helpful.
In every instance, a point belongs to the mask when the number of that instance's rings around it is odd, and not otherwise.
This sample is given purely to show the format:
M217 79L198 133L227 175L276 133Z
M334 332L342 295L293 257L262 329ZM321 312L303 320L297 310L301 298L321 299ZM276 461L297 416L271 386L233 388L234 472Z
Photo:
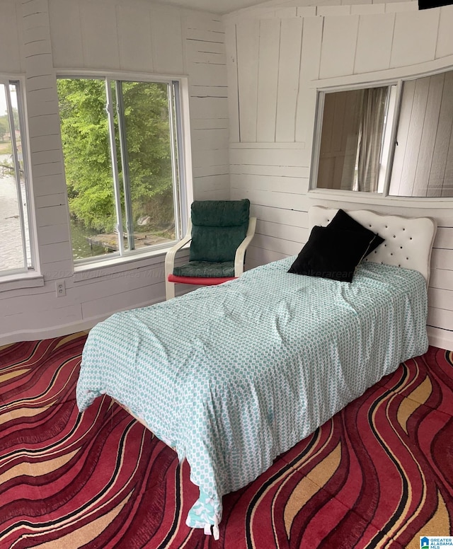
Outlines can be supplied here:
M57 90L74 260L180 238L178 81L71 77Z

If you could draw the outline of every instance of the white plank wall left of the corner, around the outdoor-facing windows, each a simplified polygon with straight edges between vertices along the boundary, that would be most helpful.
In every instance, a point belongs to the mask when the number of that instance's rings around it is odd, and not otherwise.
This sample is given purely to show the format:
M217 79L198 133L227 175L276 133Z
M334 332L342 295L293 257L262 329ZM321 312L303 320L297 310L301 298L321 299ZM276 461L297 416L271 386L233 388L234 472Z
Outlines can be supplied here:
M0 282L0 344L90 328L115 311L164 299L164 258L77 273L56 90L59 71L188 77L197 199L229 197L224 25L146 0L2 0L0 72L24 76L41 280ZM63 279L66 296L56 297ZM29 287L24 287L29 286Z

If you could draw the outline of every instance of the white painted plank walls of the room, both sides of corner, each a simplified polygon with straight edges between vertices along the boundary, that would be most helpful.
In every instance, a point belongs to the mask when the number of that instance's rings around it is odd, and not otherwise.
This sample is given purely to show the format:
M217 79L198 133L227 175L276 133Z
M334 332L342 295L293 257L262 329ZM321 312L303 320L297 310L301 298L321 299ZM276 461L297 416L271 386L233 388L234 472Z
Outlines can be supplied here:
M308 192L316 86L453 66L452 6L419 13L412 1L322 0L316 7L277 0L220 21L146 0L1 4L0 71L25 76L43 280L19 288L0 282L0 344L88 328L119 309L164 299L159 255L74 276L55 75L109 69L188 76L194 196L251 199L258 227L249 266L298 253L311 204L435 217L430 340L453 349L449 204L329 202ZM65 297L55 296L55 279L64 279Z

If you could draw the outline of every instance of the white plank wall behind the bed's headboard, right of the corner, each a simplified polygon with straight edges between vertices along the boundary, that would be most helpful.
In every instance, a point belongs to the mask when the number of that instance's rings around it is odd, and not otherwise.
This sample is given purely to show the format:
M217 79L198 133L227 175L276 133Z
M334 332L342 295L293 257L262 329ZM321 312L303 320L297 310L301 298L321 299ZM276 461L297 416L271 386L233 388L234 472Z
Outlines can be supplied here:
M429 335L453 349L453 203L309 192L316 87L386 80L453 65L453 6L268 2L224 17L229 75L231 198L258 217L249 266L296 254L311 204L432 216ZM237 100L236 93L237 90Z

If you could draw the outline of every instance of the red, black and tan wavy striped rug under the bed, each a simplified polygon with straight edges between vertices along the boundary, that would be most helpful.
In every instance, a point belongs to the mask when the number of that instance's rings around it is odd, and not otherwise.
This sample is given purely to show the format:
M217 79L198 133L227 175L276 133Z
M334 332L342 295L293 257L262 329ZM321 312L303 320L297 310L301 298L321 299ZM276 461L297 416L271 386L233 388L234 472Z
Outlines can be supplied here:
M0 347L1 549L398 549L452 534L452 353L401 364L224 497L215 542L185 526L187 463L108 397L79 415L84 341Z

